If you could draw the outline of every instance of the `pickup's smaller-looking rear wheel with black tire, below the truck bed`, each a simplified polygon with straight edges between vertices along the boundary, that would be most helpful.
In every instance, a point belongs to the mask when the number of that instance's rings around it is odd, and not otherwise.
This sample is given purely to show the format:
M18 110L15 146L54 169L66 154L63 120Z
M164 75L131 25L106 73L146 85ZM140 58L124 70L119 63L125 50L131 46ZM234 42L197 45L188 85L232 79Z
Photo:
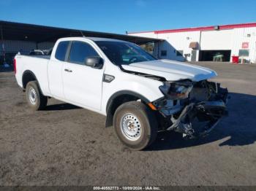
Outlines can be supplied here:
M35 96L31 96L31 94ZM33 101L31 99L33 99ZM31 81L26 85L26 101L35 111L44 109L47 105L48 98L42 95L37 81Z

